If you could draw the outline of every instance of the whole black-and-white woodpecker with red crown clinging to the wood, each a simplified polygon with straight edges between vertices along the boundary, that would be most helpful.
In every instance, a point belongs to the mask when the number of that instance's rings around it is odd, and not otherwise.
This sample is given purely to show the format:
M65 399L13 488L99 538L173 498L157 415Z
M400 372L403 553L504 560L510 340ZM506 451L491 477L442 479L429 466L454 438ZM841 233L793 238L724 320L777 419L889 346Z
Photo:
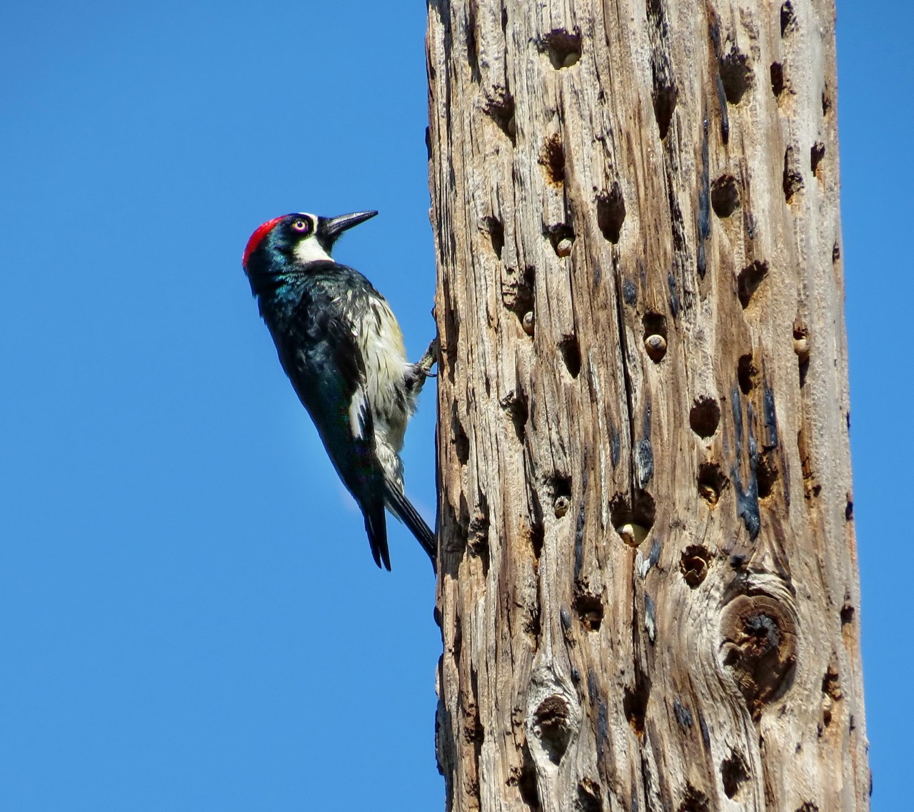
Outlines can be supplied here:
M403 492L399 456L432 348L410 364L387 300L330 256L347 228L375 215L274 217L250 236L241 264L282 369L362 511L375 564L390 569L386 506L434 567L435 534Z

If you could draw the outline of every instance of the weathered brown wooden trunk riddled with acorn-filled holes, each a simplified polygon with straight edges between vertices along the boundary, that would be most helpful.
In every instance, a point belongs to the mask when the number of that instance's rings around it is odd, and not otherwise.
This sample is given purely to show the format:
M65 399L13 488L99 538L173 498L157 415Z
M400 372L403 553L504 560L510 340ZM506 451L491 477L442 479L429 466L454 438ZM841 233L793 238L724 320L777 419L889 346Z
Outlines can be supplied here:
M431 0L455 810L866 809L832 0Z

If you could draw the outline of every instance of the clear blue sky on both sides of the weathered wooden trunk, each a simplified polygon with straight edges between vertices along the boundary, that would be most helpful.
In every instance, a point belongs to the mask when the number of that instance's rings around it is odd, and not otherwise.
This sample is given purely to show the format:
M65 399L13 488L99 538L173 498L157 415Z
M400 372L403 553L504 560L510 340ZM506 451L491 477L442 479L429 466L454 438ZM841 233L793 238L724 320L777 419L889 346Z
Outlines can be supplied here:
M874 808L901 809L914 13L865 5L839 3L852 441ZM4 812L442 807L430 567L391 522L375 568L239 268L271 216L377 208L338 255L428 343L425 14L389 7L0 9Z

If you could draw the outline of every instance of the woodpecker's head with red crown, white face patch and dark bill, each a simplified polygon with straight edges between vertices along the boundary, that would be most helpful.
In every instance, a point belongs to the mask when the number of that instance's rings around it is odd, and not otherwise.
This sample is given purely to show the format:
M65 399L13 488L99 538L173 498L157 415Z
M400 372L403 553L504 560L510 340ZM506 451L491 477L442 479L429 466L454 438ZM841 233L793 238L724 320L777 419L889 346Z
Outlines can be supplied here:
M337 217L304 213L268 220L250 235L241 265L255 294L276 290L282 278L310 262L330 260L334 243L347 229L377 212L354 212Z

